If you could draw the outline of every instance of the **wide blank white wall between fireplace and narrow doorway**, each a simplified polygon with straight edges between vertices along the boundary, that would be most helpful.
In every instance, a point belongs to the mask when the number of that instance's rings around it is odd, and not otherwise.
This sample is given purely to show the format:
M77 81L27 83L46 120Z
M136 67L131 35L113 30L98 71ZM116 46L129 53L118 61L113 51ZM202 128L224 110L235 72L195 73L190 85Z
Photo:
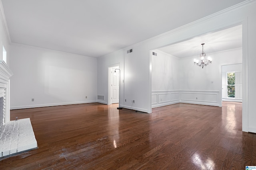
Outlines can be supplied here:
M10 69L11 109L96 102L95 58L12 44Z

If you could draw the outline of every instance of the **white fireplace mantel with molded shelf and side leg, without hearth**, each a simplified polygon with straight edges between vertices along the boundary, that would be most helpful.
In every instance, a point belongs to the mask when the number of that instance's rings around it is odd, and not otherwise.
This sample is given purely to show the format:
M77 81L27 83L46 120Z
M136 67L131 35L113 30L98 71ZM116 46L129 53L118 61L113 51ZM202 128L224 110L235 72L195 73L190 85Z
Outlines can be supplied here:
M0 88L6 89L4 123L10 121L10 77L13 75L7 64L0 60Z

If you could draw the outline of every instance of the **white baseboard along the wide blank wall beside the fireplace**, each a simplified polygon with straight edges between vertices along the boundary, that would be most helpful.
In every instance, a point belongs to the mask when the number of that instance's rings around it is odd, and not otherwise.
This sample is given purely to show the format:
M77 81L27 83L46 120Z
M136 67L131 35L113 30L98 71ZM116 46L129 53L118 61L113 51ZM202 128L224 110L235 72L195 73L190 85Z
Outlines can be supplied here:
M28 108L36 108L36 107L49 107L49 106L62 106L62 105L70 105L70 104L86 104L86 103L96 103L98 101L82 101L82 102L67 102L67 103L54 103L54 104L40 104L40 105L28 105L28 106L11 106L11 110L15 109L28 109Z

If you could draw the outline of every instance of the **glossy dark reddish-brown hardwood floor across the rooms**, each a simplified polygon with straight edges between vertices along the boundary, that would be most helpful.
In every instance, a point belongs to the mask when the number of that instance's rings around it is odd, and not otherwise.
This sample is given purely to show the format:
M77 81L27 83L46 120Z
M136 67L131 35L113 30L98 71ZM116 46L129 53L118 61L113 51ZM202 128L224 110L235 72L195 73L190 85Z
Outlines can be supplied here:
M242 103L174 104L152 114L117 104L11 111L30 117L38 149L0 160L0 169L244 170L256 166L256 135L242 132Z

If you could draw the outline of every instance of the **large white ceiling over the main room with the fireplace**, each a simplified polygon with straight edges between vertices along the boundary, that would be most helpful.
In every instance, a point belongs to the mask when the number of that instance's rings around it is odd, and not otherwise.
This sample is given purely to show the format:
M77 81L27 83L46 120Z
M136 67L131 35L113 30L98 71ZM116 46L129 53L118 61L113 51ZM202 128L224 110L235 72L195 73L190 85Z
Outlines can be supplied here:
M12 43L101 57L245 0L0 1Z

